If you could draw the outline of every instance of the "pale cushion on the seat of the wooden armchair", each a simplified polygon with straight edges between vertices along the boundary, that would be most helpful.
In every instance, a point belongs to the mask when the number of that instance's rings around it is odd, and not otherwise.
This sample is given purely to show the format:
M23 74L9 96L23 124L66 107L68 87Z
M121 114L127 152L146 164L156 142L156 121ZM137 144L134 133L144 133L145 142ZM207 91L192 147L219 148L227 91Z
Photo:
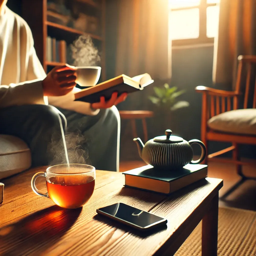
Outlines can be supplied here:
M217 131L256 135L256 109L237 109L213 116L208 126Z

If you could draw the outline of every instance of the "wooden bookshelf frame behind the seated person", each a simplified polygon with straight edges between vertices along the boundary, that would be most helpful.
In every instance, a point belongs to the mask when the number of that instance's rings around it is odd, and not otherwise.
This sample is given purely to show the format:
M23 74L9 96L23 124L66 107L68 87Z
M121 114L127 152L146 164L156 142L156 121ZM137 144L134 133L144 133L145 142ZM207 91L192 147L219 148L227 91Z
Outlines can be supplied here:
M52 11L47 10L47 0L23 0L22 16L28 23L34 38L34 46L37 56L44 67L45 72L48 72L55 66L62 66L65 63L56 61L47 61L46 58L46 38L51 36L57 40L65 40L67 45L72 43L80 35L90 35L94 45L101 53L101 77L100 81L106 80L105 72L105 0L70 0L71 4L78 3L81 10L87 13L93 13L100 20L99 34L87 33L79 29L64 26L47 20L47 15L52 14ZM83 13L81 11L81 13ZM55 13L55 16L61 16Z

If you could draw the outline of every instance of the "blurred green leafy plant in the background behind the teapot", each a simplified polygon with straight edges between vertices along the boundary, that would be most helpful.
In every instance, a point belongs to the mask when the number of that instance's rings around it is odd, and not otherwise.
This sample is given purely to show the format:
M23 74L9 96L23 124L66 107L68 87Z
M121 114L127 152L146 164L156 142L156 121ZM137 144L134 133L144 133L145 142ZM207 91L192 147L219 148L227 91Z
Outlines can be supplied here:
M150 101L157 107L159 113L156 115L159 124L162 124L162 129L173 129L173 124L171 116L172 112L186 108L189 106L189 103L184 100L179 100L180 95L184 94L185 90L178 90L176 86L170 87L169 84L165 83L163 87L154 87L154 96L149 96ZM171 127L172 126L172 127ZM163 131L162 131L163 132Z

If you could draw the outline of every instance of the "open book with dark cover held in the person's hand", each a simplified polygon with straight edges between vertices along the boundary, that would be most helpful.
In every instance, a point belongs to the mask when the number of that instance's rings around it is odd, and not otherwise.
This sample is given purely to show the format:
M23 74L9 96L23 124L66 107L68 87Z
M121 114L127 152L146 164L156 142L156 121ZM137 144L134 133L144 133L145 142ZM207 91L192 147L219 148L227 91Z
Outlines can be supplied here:
M132 93L143 90L144 87L153 83L150 75L145 73L136 77L128 77L121 75L95 86L83 89L74 94L75 100L95 103L100 101L100 97L104 96L105 100L109 100L113 92L118 92L118 96L122 93Z

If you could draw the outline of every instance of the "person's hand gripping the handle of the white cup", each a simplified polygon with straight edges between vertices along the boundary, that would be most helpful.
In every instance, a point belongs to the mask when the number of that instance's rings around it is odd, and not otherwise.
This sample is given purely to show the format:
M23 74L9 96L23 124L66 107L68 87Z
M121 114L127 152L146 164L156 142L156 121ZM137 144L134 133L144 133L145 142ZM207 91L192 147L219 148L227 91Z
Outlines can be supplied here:
M76 86L76 79L76 70L72 66L53 68L42 81L44 96L66 95Z

